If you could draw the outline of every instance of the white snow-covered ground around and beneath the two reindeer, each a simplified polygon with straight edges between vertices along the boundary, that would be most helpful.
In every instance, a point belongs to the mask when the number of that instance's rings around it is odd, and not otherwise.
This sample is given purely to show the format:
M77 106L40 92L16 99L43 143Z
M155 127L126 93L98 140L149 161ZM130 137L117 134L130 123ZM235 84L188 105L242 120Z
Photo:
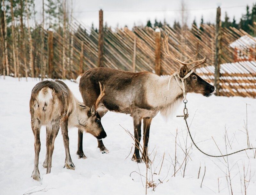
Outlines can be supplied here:
M34 136L30 126L29 99L33 86L38 80L24 78L19 82L12 77L0 79L0 194L145 194L145 164L131 161L130 153L133 141L122 127L133 132L132 118L128 115L108 112L102 118L102 125L107 132L103 140L110 151L101 154L97 148L96 139L84 135L84 153L87 159L78 159L77 129L69 129L70 153L76 166L75 170L63 168L65 150L62 136L59 131L54 144L51 173L46 175L43 168L45 157L45 127L41 129L41 152L39 156L39 171L41 181L35 181L30 176L34 168ZM78 84L64 81L81 100ZM203 151L220 155L212 137L220 148L222 154L226 153L224 133L225 126L232 149L228 146L228 153L247 147L244 131L246 123L246 103L248 109L248 131L250 144L256 146L256 99L242 97L216 97L206 98L198 94L188 94L189 124L198 146ZM183 105L177 110L180 115ZM122 127L121 127L121 126ZM148 188L149 194L231 194L230 185L227 183L226 173L227 158L212 158L200 153L195 146L189 151L188 162L183 177L185 163L184 153L177 145L177 169L175 177L172 176L174 168L172 161L175 159L175 134L178 129L177 142L185 150L184 141L187 131L182 118L173 117L166 121L157 115L151 124L149 153L155 160L152 165L154 183L158 184L155 191ZM188 147L191 140L188 137ZM255 150L254 150L255 152ZM160 171L163 155L164 161ZM129 155L129 156L128 156ZM128 156L128 158L126 158ZM228 157L230 178L233 194L244 194L244 182L247 186L250 173L251 179L247 194L256 193L256 159L253 151L241 152ZM198 170L201 164L199 179ZM243 164L248 173L244 181ZM206 167L205 176L204 166ZM249 166L249 167L248 167ZM168 171L169 170L169 171ZM240 170L240 173L239 173ZM141 175L136 172L140 172ZM160 171L160 174L158 174ZM131 174L132 173L132 174ZM148 170L148 175L151 175ZM241 180L240 180L241 176ZM218 185L219 178L219 185ZM159 181L159 180L160 181ZM150 176L150 181L152 181ZM229 182L229 178L228 178ZM143 186L144 185L144 186ZM229 186L229 187L228 187ZM40 191L43 190L43 191ZM230 191L230 192L229 192Z

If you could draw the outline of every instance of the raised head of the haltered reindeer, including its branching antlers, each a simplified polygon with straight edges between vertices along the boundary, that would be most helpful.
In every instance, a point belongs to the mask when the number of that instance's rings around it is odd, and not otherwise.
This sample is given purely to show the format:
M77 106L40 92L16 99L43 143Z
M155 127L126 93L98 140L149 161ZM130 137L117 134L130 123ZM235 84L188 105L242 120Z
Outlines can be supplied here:
M165 47L167 50L165 50ZM175 62L178 62L179 64L183 65L180 68L180 71L177 72L177 75L180 79L184 79L185 91L187 93L197 93L197 94L202 94L206 97L209 97L215 92L214 86L212 86L211 84L206 82L204 79L202 79L195 72L192 71L193 68L195 68L201 64L204 64L206 62L205 56L201 60L196 60L196 61L192 61L192 62L188 63L189 60L191 60L192 58L197 56L198 52L196 51L195 56L192 56L183 62L176 59L175 57L172 56L172 54L169 51L168 35L167 36L164 35L163 50L164 50L165 56L170 57ZM194 63L198 63L198 64L196 64L190 68L189 65L194 64Z

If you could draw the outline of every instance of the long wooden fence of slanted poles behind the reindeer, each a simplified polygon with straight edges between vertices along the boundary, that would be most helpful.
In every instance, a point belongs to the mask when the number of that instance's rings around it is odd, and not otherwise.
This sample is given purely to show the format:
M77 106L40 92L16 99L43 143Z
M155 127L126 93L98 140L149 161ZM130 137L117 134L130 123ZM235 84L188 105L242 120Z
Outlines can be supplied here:
M43 33L44 47L41 49L40 41L33 40L33 70L26 68L30 55L26 55L26 64L18 54L20 60L18 76L25 77L27 71L30 77L34 73L35 77L39 78L76 79L80 73L99 65L125 71L150 71L159 75L170 75L179 70L180 64L163 55L162 33L165 32L169 34L170 52L176 58L185 60L193 56L196 50L199 53L197 59L202 59L203 54L207 57L207 63L198 68L197 73L213 83L216 56L215 26L204 24L201 27L201 29L197 26L192 26L191 29L173 29L163 26L159 29L160 32L150 27L134 27L132 30L123 28L114 31L111 28L102 27L99 35L76 19L72 19L72 22L67 25L65 36L61 30L52 32L38 27L37 31L34 31L34 36L36 37L36 32ZM237 61L235 49L230 46L244 35L255 40L241 29L232 27L221 29L220 95L256 97L255 62L234 63L235 59ZM103 39L101 43L99 43L99 36ZM12 40L8 41L11 43ZM28 40L25 45L28 54ZM254 53L256 53L255 45L249 48ZM102 52L98 50L99 47L102 47ZM2 48L0 50L2 54ZM240 53L244 56L248 55L243 50ZM100 60L99 57L101 57ZM1 58L4 64L2 55ZM12 44L8 44L8 58L10 75L14 76ZM0 68L3 70L3 66Z

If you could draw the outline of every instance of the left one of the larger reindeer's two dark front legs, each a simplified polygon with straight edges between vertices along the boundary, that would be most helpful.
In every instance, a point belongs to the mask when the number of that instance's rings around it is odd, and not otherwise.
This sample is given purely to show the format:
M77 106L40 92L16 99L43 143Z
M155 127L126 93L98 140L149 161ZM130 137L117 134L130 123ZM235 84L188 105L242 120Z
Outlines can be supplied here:
M141 139L141 119L133 117L133 126L134 126L134 139L135 139L135 148L134 154L132 156L132 161L141 163L140 158L140 139Z

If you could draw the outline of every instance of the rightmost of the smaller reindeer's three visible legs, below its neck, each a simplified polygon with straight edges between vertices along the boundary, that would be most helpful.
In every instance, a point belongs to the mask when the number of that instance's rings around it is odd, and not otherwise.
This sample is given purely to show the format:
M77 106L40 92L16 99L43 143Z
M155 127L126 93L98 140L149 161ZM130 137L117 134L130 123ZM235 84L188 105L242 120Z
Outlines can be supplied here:
M63 143L66 152L65 166L67 169L75 169L75 165L72 162L70 152L69 152L69 138L68 138L68 120L64 120L61 123L61 134L63 137Z

